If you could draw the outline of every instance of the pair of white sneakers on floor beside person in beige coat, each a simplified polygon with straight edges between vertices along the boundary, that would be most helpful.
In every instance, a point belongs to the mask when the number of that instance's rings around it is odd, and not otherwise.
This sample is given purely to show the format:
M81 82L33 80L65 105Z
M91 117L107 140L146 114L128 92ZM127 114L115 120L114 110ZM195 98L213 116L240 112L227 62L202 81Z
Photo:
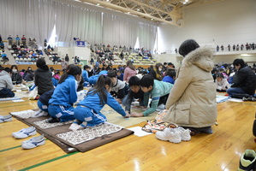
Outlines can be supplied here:
M191 139L190 130L183 127L165 128L163 132L156 133L157 139L170 141L171 143L181 143Z

